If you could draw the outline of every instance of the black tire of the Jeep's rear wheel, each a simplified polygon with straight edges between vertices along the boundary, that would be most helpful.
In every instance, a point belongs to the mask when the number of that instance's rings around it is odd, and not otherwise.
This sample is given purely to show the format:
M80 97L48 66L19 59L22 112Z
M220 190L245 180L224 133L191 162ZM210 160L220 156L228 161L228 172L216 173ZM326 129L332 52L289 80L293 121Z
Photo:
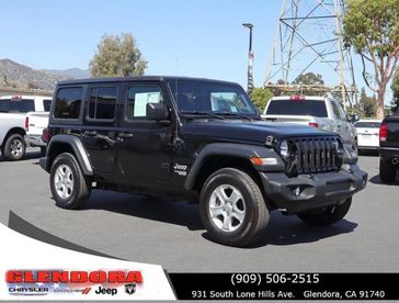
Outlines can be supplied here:
M59 193L56 188L56 173L58 169L61 170L65 176L65 180L61 180L60 182L65 183L66 180L69 180L70 184L72 184L72 188L68 188L66 184L59 187L60 191L66 192L65 197L61 197L61 193ZM59 181L60 177L59 175L57 176ZM73 155L64 153L58 155L54 160L50 170L50 189L56 205L62 209L76 210L81 207L89 200L91 186L88 180L86 180Z

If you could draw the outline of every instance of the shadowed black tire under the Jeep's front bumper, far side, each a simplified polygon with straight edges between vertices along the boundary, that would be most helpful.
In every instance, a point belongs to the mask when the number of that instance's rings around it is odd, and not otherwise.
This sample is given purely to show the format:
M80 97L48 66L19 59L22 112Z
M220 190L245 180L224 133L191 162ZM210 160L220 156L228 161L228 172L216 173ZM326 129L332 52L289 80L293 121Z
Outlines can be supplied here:
M341 221L351 209L352 198L338 206L324 207L305 213L299 213L297 216L307 224L326 226Z

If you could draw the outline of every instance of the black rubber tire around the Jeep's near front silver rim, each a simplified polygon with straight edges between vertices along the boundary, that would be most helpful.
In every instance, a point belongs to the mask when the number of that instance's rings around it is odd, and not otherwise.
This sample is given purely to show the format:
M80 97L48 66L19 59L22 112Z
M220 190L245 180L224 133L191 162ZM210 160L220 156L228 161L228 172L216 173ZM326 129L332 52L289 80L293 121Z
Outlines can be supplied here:
M219 216L223 216L225 220L225 215L219 214L216 218L213 218L210 215L210 199L214 197L214 191L220 187L227 187L228 191L230 190L229 187L238 190L242 197L242 199L236 202L236 207L231 207L232 203L229 202L230 206L227 211L225 209L219 210L230 217L231 225L233 221L239 222L235 215L239 211L244 210L241 223L233 226L236 228L233 231L226 231L223 226L218 227L215 223L215 221L220 220ZM229 199L232 197L232 191L230 195L227 195ZM215 201L219 201L221 204L220 199L215 198ZM220 204L216 207L221 207ZM238 207L241 209L238 210ZM208 177L201 191L200 210L203 224L210 238L217 243L237 247L246 246L260 238L264 234L270 218L266 204L258 184L248 173L235 168L223 168Z

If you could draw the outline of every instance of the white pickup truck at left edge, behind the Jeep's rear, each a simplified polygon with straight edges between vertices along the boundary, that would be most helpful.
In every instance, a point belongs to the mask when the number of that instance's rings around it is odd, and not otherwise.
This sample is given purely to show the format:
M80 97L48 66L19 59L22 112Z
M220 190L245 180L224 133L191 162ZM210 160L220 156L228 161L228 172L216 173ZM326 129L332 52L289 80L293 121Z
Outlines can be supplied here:
M7 160L23 158L26 149L25 138L30 146L42 147L36 145L36 142L42 137L42 126L47 125L50 103L50 97L0 97L0 147Z

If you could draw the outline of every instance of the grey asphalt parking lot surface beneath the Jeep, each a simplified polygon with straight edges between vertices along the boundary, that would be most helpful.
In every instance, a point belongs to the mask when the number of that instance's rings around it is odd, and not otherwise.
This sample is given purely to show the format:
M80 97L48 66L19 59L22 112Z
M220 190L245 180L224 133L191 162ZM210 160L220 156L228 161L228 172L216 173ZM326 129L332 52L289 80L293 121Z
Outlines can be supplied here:
M378 156L365 155L367 188L333 226L310 227L274 212L264 239L249 248L210 242L195 204L151 201L94 190L88 205L66 211L52 200L48 175L30 149L18 162L0 157L0 222L9 211L57 237L126 260L159 263L170 272L399 271L399 178L381 184Z

